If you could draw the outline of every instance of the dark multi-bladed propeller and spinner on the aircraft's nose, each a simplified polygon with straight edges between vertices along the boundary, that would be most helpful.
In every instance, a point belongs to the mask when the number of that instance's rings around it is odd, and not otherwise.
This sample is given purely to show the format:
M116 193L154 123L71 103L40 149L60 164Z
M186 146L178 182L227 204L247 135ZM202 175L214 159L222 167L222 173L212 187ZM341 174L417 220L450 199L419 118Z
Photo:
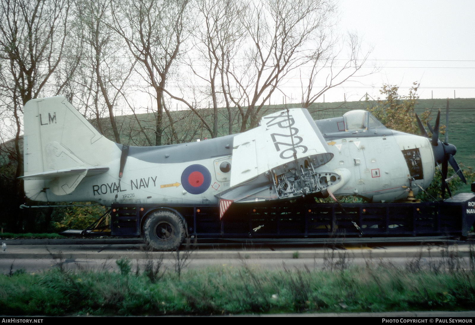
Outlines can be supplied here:
M426 129L424 128L424 125L422 124L421 120L419 119L419 116L416 114L417 122L419 125L420 132L423 136L428 137L428 134L426 132ZM448 99L447 99L447 108L446 108L446 137L445 141L442 142L439 140L439 122L440 122L440 109L439 112L437 113L437 119L436 119L436 124L434 125L434 129L430 126L429 123L427 123L427 126L429 128L429 131L432 133L432 149L434 152L434 160L436 164L438 165L439 163L442 163L442 186L441 186L441 191L442 191L442 200L444 200L445 197L445 190L447 188L447 191L450 196L452 194L450 193L450 189L448 188L447 185L447 168L448 168L448 163L452 166L454 171L456 171L458 177L462 180L462 182L467 183L465 176L458 166L458 163L456 162L454 155L457 152L457 148L455 145L448 143L448 132L447 132L447 124L448 124Z

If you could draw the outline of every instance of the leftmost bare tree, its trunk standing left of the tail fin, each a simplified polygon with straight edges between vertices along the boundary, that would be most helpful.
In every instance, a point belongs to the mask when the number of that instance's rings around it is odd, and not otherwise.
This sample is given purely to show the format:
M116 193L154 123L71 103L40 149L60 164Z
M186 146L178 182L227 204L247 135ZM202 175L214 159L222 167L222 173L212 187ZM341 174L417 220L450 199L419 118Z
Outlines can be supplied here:
M17 194L17 207L24 196L23 182L18 179L23 173L22 107L39 95L58 95L69 82L72 71L56 84L49 83L65 53L68 14L68 0L3 0L0 4L0 105L2 113L13 116L14 150L9 154L17 168L10 191ZM22 221L22 214L18 215L17 226Z

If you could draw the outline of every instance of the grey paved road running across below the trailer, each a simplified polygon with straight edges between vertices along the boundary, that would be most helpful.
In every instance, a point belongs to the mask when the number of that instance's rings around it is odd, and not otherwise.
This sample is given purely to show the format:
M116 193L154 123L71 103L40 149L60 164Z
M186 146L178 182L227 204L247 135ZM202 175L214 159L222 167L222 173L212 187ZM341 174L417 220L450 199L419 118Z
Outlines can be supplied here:
M28 239L3 240L7 248L0 251L0 272L16 269L41 272L51 268L110 269L115 261L129 258L134 265L143 266L148 260L163 259L163 266L174 268L184 258L190 268L209 266L250 266L253 268L331 268L345 264L365 265L391 262L404 266L411 262L454 262L466 268L470 263L473 245L342 245L327 248L323 245L290 246L262 245L198 245L176 252L150 252L140 239ZM472 254L473 255L473 254ZM450 260L450 263L449 263Z

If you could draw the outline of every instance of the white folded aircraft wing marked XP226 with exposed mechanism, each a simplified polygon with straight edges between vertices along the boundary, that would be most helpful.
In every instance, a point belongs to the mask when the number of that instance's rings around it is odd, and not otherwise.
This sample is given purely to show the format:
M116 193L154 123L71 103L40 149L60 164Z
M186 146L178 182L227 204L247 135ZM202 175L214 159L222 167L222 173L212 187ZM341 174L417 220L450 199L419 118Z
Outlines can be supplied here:
M266 115L236 135L230 188L218 193L233 202L292 199L325 191L340 176L324 167L333 158L306 109Z

